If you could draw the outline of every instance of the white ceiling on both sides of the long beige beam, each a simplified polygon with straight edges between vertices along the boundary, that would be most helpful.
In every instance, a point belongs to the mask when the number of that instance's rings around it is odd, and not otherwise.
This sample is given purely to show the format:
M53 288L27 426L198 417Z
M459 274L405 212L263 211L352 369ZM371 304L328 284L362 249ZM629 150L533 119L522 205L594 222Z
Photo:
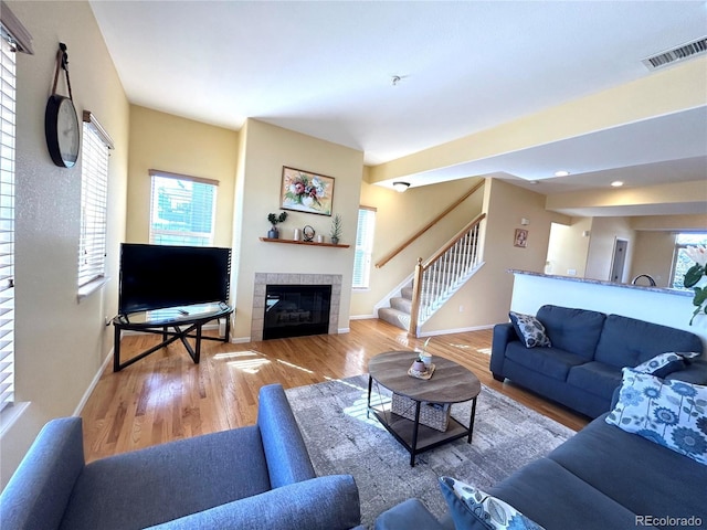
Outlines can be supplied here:
M707 34L705 1L91 4L130 103L233 129L257 118L368 165L652 75L642 59ZM544 193L707 179L707 108L407 180L469 174Z

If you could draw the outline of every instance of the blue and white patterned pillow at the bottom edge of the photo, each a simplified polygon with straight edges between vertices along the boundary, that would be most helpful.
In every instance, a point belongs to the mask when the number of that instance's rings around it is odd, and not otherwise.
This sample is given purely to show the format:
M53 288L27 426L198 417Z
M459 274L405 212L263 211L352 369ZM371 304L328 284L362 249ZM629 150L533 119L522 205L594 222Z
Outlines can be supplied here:
M544 530L513 506L451 477L440 477L456 530Z

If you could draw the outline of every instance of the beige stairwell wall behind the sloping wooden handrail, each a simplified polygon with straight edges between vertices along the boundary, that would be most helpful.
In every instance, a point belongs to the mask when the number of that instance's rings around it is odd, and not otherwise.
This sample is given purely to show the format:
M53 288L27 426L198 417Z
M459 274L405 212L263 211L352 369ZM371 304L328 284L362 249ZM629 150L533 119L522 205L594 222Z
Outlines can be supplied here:
M435 216L463 197L479 178L455 180L411 188L398 193L388 188L361 183L361 205L376 212L376 235L371 259L370 288L351 295L352 316L372 316L373 306L414 272L418 258L426 259L482 211L483 189L455 208L381 268L376 267L390 252L428 225Z

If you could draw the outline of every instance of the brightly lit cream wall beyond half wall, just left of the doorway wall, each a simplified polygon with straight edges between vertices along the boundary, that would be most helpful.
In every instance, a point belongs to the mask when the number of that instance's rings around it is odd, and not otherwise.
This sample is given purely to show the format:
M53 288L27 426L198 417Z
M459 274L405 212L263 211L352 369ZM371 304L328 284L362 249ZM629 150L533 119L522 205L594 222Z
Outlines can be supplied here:
M592 218L572 218L570 224L553 223L548 243L547 274L584 277ZM589 232L590 235L584 235ZM574 271L574 274L571 272Z

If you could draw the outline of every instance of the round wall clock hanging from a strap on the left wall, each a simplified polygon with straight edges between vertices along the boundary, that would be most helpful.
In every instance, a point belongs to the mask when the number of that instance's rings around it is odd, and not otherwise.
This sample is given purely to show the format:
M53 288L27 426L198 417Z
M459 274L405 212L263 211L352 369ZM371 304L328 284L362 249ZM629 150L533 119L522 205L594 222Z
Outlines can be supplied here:
M56 94L59 73L63 70L66 76L66 89L68 97ZM78 160L78 149L81 147L78 117L74 108L71 93L71 81L68 80L68 54L66 44L59 43L56 52L56 66L54 70L54 84L52 95L46 100L44 110L44 136L46 147L54 165L60 168L73 168Z

